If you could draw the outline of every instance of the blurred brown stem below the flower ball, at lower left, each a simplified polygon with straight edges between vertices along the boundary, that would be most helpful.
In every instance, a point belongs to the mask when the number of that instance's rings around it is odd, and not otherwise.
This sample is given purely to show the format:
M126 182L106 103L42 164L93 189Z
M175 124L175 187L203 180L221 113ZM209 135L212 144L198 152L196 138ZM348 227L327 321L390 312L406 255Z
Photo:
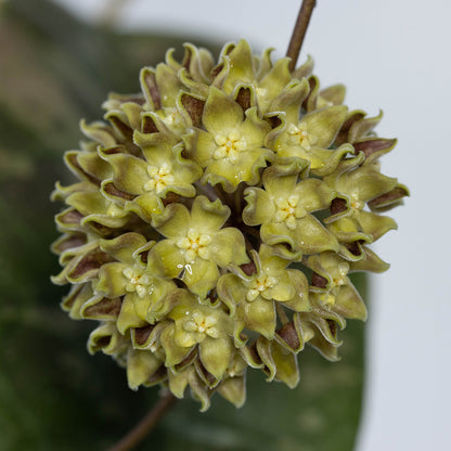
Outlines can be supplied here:
M162 416L176 401L176 397L168 392L153 407L153 409L116 444L107 451L132 450L155 427Z

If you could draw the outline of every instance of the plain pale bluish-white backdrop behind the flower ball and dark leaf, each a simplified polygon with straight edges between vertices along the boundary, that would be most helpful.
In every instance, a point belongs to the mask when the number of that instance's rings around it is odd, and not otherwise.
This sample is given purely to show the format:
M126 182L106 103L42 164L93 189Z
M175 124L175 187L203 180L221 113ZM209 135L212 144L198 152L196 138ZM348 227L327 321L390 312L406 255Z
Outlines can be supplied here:
M98 21L111 0L59 2ZM176 30L186 40L246 38L254 49L274 47L282 56L300 1L123 3L123 27ZM318 0L302 48L323 87L347 85L350 108L384 111L378 134L399 144L382 159L383 171L412 194L390 212L399 231L375 247L391 269L372 279L358 451L451 449L450 16L448 0Z

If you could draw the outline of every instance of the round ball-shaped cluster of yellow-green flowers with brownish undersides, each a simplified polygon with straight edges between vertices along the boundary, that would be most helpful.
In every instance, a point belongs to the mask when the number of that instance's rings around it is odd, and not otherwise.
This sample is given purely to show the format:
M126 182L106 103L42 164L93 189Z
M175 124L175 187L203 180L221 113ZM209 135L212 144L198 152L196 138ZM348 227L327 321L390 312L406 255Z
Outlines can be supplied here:
M141 70L141 93L111 94L65 154L78 180L53 193L53 282L133 389L239 407L248 366L294 387L305 344L336 360L346 319L366 317L348 275L388 267L369 245L408 194L379 171L396 141L342 104L343 86L320 90L310 60L288 63L245 41L218 63L186 44Z

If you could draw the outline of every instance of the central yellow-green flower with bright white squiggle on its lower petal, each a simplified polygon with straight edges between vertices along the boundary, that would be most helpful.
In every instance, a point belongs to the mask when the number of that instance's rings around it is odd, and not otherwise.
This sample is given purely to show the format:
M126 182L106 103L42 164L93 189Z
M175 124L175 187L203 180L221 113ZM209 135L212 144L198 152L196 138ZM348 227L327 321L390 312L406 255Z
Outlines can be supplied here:
M191 211L181 204L168 205L153 223L166 240L152 248L151 267L206 296L219 278L219 268L249 261L243 234L232 227L222 228L229 216L227 206L205 196L194 199Z

